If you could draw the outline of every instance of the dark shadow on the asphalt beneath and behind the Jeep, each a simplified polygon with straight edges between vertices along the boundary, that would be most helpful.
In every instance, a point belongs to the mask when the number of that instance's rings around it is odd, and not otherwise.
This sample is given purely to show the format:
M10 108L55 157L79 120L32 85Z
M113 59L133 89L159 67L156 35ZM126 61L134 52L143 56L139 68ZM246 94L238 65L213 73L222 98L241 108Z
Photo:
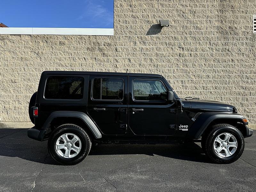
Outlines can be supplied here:
M47 141L27 136L28 129L0 129L0 156L18 157L37 163L58 165L48 154ZM97 155L163 156L168 158L211 163L196 143L183 144L102 144L93 146L89 156Z

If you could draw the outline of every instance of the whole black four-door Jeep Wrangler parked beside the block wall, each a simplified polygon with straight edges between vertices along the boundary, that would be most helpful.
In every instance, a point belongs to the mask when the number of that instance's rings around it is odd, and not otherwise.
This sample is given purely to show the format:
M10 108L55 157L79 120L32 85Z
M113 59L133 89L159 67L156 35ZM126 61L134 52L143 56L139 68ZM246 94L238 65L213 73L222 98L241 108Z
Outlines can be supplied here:
M28 137L48 140L51 156L77 164L92 143L169 143L201 139L213 162L231 163L252 135L234 106L181 99L153 74L45 71L29 103ZM171 153L171 151L170 151Z

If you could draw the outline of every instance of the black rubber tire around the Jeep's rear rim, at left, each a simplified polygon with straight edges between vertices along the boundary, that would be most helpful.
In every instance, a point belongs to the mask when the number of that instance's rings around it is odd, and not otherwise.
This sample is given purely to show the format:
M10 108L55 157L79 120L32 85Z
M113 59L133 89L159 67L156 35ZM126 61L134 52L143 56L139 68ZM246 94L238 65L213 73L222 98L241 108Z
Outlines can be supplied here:
M81 150L73 158L65 158L58 154L55 144L57 139L64 133L73 133L81 141ZM48 151L51 154L52 158L59 162L60 164L65 165L75 165L84 160L84 158L89 154L92 147L92 142L88 134L81 127L75 124L63 124L56 128L48 140Z

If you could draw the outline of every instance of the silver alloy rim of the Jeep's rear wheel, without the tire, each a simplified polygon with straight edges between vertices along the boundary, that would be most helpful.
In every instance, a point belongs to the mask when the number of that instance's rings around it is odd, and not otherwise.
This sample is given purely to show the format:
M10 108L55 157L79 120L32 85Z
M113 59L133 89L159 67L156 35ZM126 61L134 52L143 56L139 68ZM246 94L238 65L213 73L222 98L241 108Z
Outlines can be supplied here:
M60 156L72 158L80 152L81 141L75 134L65 133L57 139L55 147Z

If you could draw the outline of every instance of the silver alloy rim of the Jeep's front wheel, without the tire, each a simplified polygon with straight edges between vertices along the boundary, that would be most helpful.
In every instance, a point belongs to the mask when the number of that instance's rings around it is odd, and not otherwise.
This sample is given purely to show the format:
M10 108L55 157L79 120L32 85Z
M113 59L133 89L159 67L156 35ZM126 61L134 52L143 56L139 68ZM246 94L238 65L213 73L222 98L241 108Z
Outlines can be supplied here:
M236 152L237 140L231 133L221 133L213 143L214 151L221 157L229 157Z

